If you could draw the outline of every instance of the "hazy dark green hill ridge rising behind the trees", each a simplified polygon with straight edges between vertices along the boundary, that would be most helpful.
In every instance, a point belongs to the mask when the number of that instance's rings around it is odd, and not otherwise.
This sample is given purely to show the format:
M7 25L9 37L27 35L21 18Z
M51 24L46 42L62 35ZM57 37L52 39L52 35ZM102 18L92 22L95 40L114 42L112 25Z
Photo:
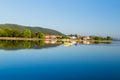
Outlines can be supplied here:
M31 32L42 32L44 34L62 34L59 31L53 30L53 29L48 29L48 28L42 28L42 27L32 27L32 26L23 26L23 25L18 25L18 24L0 24L0 29L3 28L11 28L11 29L18 29L20 31L25 31L26 29L30 29Z

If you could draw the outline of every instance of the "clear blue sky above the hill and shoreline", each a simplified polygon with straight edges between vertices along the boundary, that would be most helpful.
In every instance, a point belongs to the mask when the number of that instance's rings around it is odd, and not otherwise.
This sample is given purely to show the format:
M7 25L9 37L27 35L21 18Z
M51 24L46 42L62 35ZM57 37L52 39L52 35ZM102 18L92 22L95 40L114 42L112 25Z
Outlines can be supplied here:
M120 37L120 0L0 0L0 24Z

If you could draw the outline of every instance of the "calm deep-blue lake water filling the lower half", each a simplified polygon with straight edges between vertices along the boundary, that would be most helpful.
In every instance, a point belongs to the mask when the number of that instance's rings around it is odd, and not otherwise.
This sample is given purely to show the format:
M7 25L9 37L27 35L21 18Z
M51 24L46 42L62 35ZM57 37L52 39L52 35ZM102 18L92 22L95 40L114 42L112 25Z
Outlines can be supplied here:
M120 42L39 47L2 43L0 80L120 80Z

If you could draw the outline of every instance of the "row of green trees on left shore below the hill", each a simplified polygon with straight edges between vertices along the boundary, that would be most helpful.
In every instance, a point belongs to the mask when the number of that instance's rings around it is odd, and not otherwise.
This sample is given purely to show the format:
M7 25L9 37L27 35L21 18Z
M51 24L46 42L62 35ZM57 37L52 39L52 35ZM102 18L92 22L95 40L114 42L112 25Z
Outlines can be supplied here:
M18 29L5 28L0 29L0 37L44 38L44 34L42 32L31 32L29 29L22 32Z

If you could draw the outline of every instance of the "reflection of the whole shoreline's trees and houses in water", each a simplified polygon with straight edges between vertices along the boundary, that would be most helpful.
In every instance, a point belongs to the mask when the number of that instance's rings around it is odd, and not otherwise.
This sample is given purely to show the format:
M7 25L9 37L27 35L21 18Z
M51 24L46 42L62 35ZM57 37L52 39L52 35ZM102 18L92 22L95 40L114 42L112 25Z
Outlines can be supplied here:
M104 44L111 44L111 42L102 42ZM57 40L41 40L41 41L15 41L2 40L0 41L0 49L17 50L17 49L41 49L56 47L59 45L66 47L80 44L101 44L101 42L92 41L57 41Z

